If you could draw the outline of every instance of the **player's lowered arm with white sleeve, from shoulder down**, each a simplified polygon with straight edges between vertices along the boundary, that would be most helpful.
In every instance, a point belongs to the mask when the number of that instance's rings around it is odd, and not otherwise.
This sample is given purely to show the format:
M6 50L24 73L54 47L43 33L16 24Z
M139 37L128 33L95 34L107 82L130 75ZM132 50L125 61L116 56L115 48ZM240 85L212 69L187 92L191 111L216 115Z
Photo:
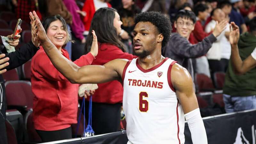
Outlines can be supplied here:
M204 123L198 108L190 74L187 69L175 64L172 66L171 80L188 122L193 144L207 144Z

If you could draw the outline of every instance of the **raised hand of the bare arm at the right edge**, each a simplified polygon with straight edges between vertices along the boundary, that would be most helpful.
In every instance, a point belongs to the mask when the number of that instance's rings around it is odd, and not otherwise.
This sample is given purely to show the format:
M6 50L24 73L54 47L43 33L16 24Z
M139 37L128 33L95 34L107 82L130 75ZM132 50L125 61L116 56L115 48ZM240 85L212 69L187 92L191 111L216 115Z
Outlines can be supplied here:
M240 36L239 27L235 24L235 22L231 22L229 28L229 42L231 45L236 45Z

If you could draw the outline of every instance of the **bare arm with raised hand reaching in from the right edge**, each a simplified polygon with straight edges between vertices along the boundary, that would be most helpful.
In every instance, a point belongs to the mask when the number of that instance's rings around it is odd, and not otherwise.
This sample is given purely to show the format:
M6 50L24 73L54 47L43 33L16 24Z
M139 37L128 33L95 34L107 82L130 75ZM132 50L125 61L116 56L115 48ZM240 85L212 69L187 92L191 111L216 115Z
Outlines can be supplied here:
M232 28L231 28L232 27ZM247 57L244 61L242 61L239 51L238 51L238 40L239 40L239 27L234 23L231 22L230 24L230 33L229 33L229 41L231 44L231 63L236 74L244 74L247 71L255 68L256 60L252 57L255 55L256 57L256 50L252 52L252 55Z

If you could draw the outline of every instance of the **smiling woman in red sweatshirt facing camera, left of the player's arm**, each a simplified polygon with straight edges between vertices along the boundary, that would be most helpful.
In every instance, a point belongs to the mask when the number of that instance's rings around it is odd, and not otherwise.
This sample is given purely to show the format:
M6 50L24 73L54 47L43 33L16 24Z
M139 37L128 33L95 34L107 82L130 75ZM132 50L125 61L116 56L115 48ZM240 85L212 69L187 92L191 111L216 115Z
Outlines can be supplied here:
M66 58L68 52L62 49L70 41L65 20L51 16L44 20L48 38ZM78 66L90 65L98 50L92 50L74 61ZM43 142L72 138L71 124L77 123L78 84L71 84L52 65L40 47L31 62L31 84L35 94L33 122Z

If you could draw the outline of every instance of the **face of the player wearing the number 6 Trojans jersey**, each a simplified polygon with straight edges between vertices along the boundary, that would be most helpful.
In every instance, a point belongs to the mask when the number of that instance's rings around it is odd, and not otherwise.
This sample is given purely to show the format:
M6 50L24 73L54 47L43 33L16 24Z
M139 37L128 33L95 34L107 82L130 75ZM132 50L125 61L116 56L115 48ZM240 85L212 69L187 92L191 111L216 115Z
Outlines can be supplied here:
M139 57L146 57L155 50L158 30L151 22L138 22L133 30L134 53Z

